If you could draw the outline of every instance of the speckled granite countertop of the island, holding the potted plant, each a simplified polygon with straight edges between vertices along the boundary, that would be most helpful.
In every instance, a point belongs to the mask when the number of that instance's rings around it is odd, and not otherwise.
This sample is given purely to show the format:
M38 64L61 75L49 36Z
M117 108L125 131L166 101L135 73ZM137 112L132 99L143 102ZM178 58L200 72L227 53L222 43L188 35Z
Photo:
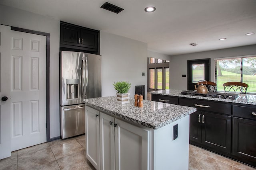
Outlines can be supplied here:
M134 98L130 98L130 103L119 104L116 103L116 96L110 96L86 99L84 103L110 115L115 115L152 129L164 127L196 111L194 107L165 104L150 100L143 100L143 107L135 107L134 101Z

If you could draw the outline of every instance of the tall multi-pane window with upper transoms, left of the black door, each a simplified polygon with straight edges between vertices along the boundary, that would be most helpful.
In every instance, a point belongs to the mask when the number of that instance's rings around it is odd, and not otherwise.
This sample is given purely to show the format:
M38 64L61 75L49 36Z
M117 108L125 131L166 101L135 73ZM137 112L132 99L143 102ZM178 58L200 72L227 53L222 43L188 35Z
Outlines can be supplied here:
M169 63L162 59L148 59L148 91L169 89Z

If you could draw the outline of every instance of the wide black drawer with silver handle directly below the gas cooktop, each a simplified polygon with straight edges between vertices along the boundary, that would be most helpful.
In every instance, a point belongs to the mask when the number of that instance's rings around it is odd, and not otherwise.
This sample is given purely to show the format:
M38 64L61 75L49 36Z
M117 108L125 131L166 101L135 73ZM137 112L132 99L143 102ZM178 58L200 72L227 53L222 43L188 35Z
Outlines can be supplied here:
M232 105L223 104L223 103L180 98L180 105L196 107L196 109L199 111L211 111L211 112L223 113L227 115L231 115L232 113Z

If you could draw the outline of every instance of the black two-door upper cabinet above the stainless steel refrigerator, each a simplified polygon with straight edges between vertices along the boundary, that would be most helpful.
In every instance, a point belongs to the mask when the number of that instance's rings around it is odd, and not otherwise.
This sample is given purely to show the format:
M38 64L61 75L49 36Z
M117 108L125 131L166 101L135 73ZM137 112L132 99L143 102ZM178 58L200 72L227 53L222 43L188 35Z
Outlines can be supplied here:
M60 22L60 47L92 51L99 54L99 32L94 29Z

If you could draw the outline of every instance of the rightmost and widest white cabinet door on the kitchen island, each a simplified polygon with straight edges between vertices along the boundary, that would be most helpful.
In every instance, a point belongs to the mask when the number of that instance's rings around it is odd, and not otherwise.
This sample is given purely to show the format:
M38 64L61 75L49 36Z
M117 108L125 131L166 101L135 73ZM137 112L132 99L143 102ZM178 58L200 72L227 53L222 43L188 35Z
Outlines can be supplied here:
M149 169L150 131L115 119L116 170Z

